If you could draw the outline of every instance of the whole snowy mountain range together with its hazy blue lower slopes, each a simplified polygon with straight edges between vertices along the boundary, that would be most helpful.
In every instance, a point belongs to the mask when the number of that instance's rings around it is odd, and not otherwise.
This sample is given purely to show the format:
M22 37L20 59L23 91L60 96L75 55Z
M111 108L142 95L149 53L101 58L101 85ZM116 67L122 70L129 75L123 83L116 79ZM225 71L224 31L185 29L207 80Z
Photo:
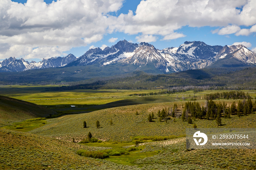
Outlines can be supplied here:
M231 53L233 58L230 57ZM239 63L236 63L238 61ZM214 64L215 62L216 64ZM225 64L225 62L233 63L233 65ZM18 83L29 82L29 80L31 82L63 82L129 74L134 71L168 74L202 69L211 65L211 68L255 66L256 53L243 45L222 47L206 45L200 41L186 41L179 47L158 50L148 43L137 44L123 40L103 50L100 48L90 49L79 58L69 54L64 58L55 57L44 59L38 63L29 63L24 59L17 60L11 57L0 64L2 66L0 72L28 70L21 74L1 74L0 81L3 82L14 80ZM60 68L53 69L52 67ZM36 70L43 68L48 69ZM34 69L33 72L29 71L31 69Z

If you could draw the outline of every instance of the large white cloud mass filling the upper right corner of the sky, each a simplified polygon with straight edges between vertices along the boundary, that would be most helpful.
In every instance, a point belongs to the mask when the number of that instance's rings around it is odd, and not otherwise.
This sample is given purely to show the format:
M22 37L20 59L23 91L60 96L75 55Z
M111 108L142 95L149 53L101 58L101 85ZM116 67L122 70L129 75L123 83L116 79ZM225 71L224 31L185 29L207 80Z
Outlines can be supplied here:
M248 35L240 31L240 26L255 25L255 12L255 0L142 0L135 13L121 14L110 28L128 34L160 35L163 39L171 38L184 26L219 27L212 31L219 35Z

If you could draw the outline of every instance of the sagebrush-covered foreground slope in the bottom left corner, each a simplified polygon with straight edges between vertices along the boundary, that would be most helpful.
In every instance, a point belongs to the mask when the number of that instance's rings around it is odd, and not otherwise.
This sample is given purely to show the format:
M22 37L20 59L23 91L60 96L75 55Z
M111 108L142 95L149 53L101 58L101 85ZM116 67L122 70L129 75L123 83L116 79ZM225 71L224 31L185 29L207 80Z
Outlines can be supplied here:
M2 170L128 169L112 162L85 158L76 154L79 149L102 148L87 147L3 128L0 128L0 146L0 169Z

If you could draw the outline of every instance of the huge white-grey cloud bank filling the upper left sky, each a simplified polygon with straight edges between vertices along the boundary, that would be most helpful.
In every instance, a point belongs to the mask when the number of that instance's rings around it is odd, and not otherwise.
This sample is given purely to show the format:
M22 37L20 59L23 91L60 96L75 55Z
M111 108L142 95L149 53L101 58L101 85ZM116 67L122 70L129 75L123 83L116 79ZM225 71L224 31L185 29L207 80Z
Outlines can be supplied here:
M122 2L58 0L46 4L44 0L27 0L21 4L1 0L0 44L7 45L1 49L0 58L49 58L97 42L113 20L108 13L120 9Z

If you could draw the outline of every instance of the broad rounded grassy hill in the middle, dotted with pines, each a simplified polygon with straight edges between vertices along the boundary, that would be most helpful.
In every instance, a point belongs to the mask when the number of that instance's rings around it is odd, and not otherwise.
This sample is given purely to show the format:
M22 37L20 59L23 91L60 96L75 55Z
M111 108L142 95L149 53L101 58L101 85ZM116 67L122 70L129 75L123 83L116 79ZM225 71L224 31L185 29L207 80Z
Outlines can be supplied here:
M223 100L219 100L223 102ZM234 100L225 100L231 104ZM200 101L205 104L205 101ZM178 109L181 109L183 101L177 101ZM110 139L114 141L128 141L132 136L168 136L168 135L184 135L186 128L192 128L193 124L176 118L175 121L168 120L159 122L157 111L163 108L172 108L174 103L154 103L133 106L124 106L117 108L103 109L90 113L79 115L66 115L54 119L48 119L47 124L43 127L31 131L38 135L53 136L65 140L82 140L90 131L94 137L99 139ZM138 111L139 115L136 115ZM154 122L148 122L149 113L154 112L157 119ZM109 121L112 119L113 125ZM99 120L101 128L96 128L95 122ZM83 121L86 121L87 128L83 128ZM195 122L198 128L217 128L215 120L198 120ZM222 118L221 127L256 127L256 114L242 116L238 118L231 115L230 119Z

